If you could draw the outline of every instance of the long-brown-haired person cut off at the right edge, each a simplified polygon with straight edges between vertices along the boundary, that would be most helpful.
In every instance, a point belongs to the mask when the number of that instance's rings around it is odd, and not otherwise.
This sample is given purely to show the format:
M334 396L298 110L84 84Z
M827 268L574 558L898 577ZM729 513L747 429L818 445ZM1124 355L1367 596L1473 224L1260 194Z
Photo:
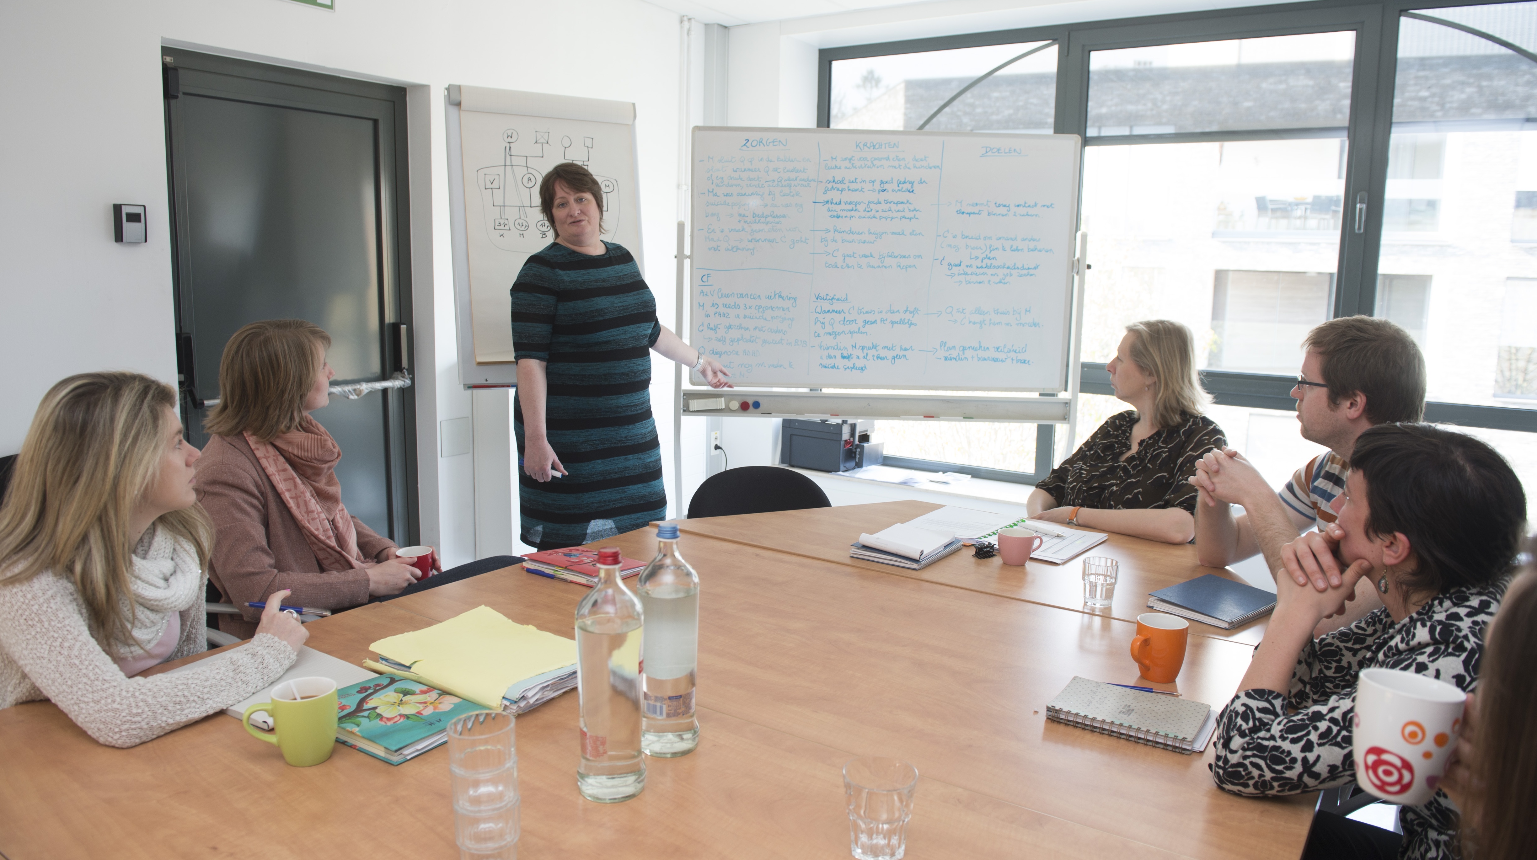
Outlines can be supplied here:
M1442 791L1462 809L1465 860L1519 860L1537 846L1537 541L1483 642L1479 693Z

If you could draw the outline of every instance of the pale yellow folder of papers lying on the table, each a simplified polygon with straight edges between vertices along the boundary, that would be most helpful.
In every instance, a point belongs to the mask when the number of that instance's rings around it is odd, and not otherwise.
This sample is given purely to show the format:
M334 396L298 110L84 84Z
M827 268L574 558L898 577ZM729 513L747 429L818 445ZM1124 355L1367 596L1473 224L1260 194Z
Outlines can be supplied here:
M443 624L380 639L363 665L521 714L576 686L576 642L476 607Z

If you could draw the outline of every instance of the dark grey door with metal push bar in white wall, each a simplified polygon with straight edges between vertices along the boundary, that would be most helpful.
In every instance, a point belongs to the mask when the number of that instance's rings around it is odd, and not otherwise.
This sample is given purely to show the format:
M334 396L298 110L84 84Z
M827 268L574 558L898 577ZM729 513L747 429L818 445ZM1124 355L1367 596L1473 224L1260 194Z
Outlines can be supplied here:
M404 91L163 51L188 438L203 445L229 336L300 318L330 333L334 385L406 367ZM347 510L417 541L410 389L315 412L341 445Z

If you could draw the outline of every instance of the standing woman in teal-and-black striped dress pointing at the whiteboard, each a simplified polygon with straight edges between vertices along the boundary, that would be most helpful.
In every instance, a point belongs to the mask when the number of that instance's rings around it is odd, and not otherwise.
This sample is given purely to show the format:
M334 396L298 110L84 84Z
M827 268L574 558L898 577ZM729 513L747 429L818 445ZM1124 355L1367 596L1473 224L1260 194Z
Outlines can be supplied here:
M698 370L713 389L730 387L730 373L656 319L635 256L599 237L603 189L586 167L550 169L539 207L555 241L512 286L512 415L523 542L558 550L667 514L650 350Z

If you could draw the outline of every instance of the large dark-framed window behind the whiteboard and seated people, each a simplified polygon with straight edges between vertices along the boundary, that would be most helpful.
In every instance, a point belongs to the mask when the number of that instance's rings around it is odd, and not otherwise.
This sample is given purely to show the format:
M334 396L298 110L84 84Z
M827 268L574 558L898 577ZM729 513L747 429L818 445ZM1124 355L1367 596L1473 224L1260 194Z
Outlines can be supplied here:
M1426 419L1482 427L1529 482L1534 52L1534 0L1260 6L828 48L819 109L839 127L1084 135L1093 272L1074 445L1125 407L1104 396L1100 364L1125 324L1170 318L1194 332L1234 445L1280 450L1268 468L1290 476L1308 458L1288 395L1302 336L1373 313L1425 352ZM927 458L996 452L967 447L981 425L908 439L890 424ZM1027 452L1028 427L1010 432Z

